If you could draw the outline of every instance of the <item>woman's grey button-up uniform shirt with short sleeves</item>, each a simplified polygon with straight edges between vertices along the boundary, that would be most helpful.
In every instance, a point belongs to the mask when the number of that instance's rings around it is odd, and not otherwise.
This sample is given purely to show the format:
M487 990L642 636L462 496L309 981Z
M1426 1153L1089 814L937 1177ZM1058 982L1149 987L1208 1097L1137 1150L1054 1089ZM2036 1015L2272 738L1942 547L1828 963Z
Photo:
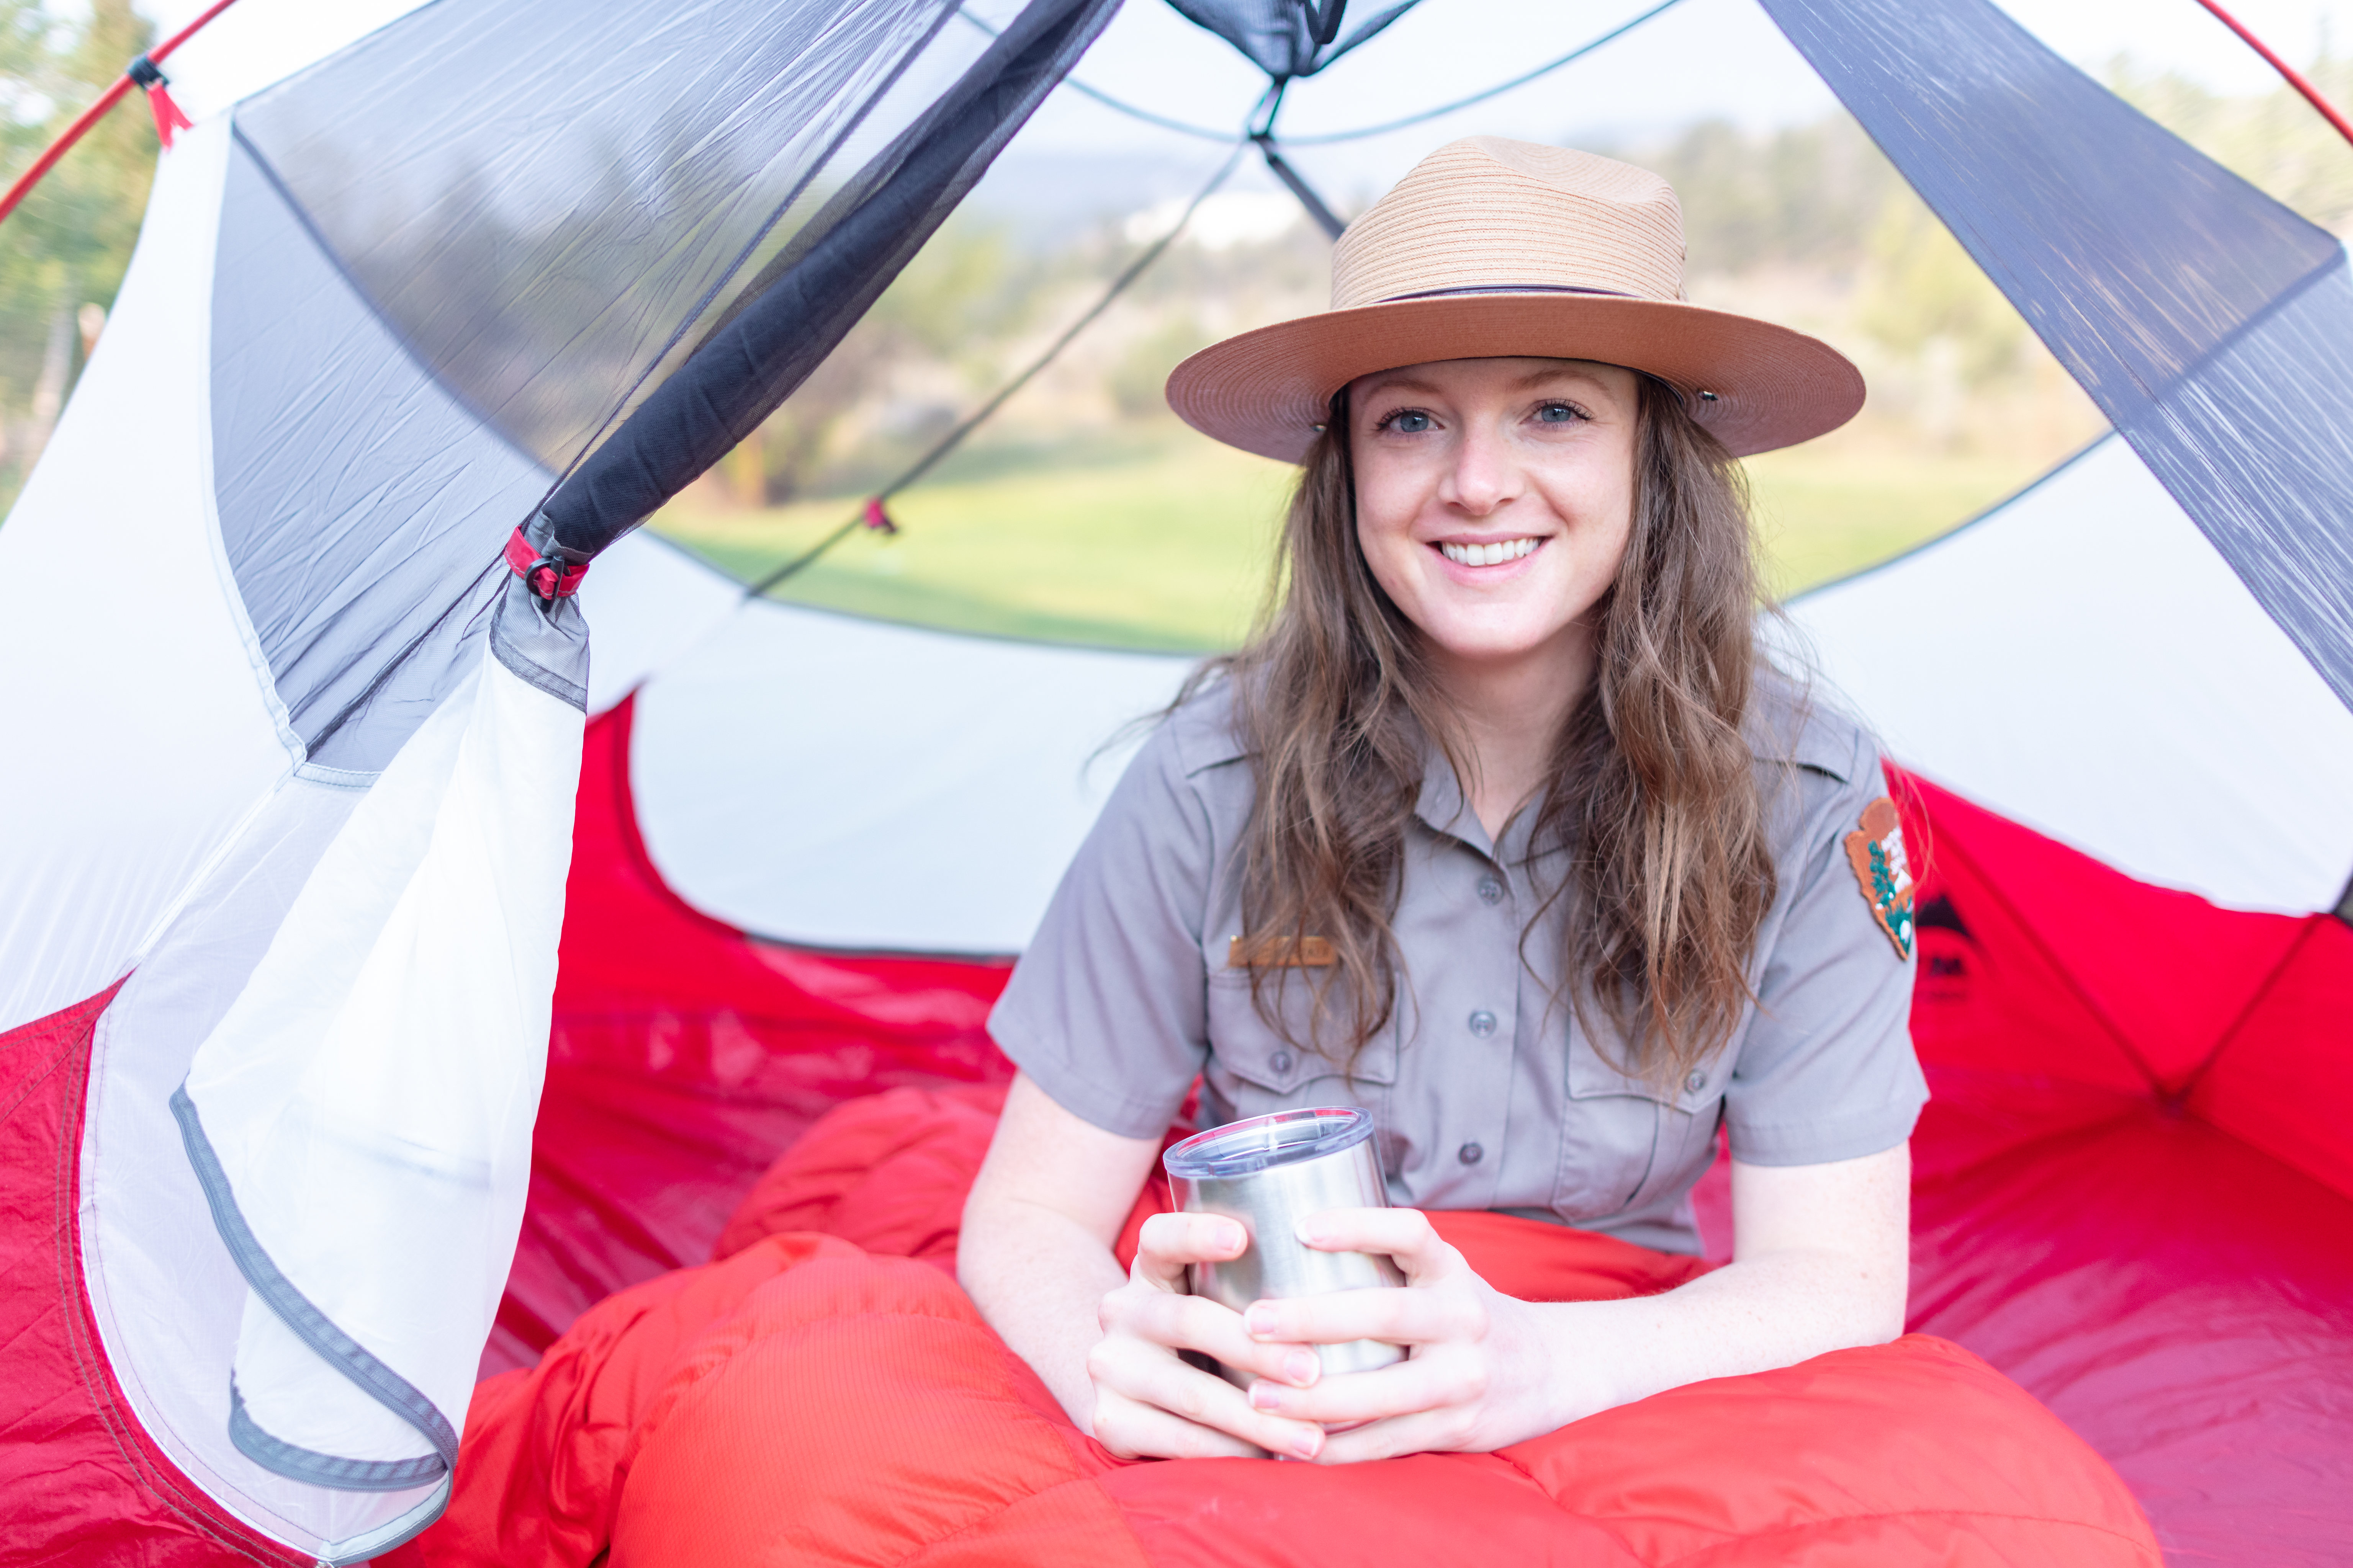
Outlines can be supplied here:
M1271 1027L1249 971L1228 966L1245 936L1238 844L1254 778L1224 684L1129 764L988 1032L1054 1103L1127 1138L1158 1138L1195 1077L1202 1126L1362 1105L1395 1204L1501 1208L1697 1253L1689 1192L1718 1124L1746 1164L1807 1166L1892 1150L1927 1100L1913 964L1845 853L1885 792L1878 748L1781 679L1760 684L1751 743L1779 870L1748 969L1758 1001L1678 1084L1628 1077L1614 1039L1588 1039L1560 985L1572 900L1544 910L1567 856L1529 853L1534 811L1492 844L1435 748L1405 844L1391 1025L1353 1072L1301 1048L1315 971L1294 969L1268 976L1292 1039Z

